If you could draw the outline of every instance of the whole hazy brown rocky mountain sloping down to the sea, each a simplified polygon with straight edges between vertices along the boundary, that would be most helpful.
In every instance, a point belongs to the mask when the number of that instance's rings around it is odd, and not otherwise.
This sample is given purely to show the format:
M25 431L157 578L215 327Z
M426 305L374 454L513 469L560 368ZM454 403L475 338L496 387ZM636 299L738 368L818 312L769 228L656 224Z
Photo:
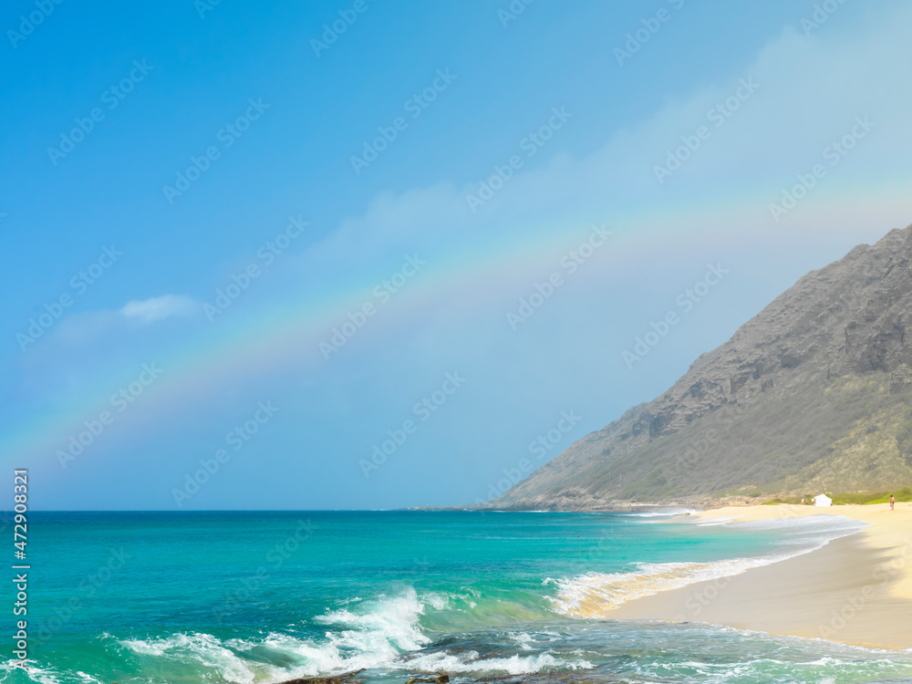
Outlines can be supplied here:
M484 506L578 510L908 485L910 316L912 226L804 275L661 397Z

